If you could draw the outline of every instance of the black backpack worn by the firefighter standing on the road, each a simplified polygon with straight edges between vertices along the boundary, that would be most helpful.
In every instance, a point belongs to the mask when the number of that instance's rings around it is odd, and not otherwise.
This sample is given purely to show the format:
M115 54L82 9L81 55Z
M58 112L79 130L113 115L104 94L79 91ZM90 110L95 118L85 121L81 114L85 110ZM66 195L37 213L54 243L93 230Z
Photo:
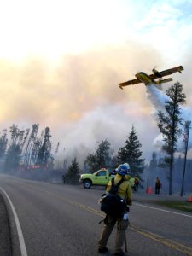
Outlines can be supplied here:
M105 212L107 215L113 217L119 217L125 212L125 201L119 196L116 195L118 192L119 185L124 182L124 178L122 178L119 183L114 184L114 178L112 178L111 189L108 194L102 195L101 203L101 211Z

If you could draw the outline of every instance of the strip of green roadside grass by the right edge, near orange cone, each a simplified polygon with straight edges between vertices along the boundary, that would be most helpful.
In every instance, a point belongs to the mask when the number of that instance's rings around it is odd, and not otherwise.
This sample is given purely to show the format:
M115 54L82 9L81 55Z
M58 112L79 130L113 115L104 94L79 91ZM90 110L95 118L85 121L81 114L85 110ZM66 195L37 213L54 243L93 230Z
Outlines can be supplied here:
M177 209L184 212L192 212L192 202L189 201L156 201L160 206Z

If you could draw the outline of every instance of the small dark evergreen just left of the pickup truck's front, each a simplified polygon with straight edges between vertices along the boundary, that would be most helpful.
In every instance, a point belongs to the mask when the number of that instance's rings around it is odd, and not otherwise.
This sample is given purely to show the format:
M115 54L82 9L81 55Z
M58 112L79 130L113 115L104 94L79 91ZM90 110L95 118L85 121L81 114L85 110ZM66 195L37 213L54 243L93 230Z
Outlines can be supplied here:
M67 183L77 184L79 183L79 177L80 177L80 167L75 157L67 170Z

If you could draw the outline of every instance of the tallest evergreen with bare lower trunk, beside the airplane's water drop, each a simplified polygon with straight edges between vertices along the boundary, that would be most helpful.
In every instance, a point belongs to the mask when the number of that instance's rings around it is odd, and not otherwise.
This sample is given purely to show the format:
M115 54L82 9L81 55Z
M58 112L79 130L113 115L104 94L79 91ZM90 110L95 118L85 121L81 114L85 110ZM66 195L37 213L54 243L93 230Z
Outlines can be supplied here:
M183 85L178 82L173 84L171 88L166 90L166 95L169 96L169 99L165 102L164 112L159 111L158 113L158 127L163 135L162 150L166 153L164 162L166 166L169 166L169 195L172 195L174 153L177 151L177 139L182 134L183 119L179 106L185 103Z

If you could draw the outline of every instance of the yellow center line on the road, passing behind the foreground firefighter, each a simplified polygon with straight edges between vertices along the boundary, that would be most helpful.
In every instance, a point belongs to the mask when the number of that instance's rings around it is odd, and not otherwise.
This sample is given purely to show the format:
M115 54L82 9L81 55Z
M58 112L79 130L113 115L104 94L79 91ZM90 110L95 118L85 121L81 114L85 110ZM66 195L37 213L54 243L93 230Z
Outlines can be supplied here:
M53 195L55 198L59 198L61 200L65 200L69 204L71 204L73 206L76 206L76 207L80 207L80 208L84 209L87 212L92 212L92 213L94 213L94 214L96 214L98 216L105 217L105 214L102 213L101 211L98 211L95 208L87 207L87 206L85 206L83 204L80 204L78 201L72 201L72 200L68 199L64 195L55 195L54 193L51 193L51 192L49 192L47 190L34 188L31 185L29 185L27 187L32 187L32 189L36 189L36 190L39 190L41 192L45 192L45 193L47 193L49 195ZM172 241L170 239L166 239L165 237L159 236L158 234L155 234L155 233L152 233L152 232L149 232L148 230L138 229L136 226L133 226L132 224L130 224L129 229L134 231L134 232L136 232L137 234L139 234L141 236L144 236L144 237L147 237L148 239L157 241L160 244L165 245L166 247L171 247L172 249L174 249L174 250L176 250L178 252L182 252L182 253L185 253L186 255L192 256L192 247L185 246L182 243L179 243L177 241Z

